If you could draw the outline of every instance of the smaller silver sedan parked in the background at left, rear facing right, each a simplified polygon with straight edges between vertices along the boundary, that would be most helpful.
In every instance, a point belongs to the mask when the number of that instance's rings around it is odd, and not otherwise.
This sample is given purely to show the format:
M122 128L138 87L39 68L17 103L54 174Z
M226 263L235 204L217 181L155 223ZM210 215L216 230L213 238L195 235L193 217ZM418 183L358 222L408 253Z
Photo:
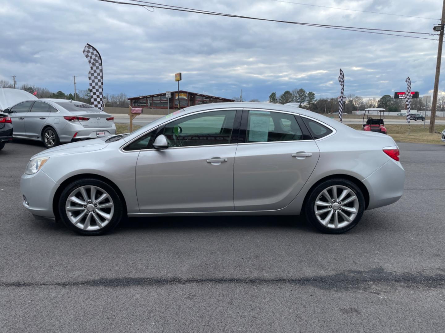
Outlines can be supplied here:
M111 115L67 99L32 99L3 113L12 119L14 138L42 141L47 148L116 134Z

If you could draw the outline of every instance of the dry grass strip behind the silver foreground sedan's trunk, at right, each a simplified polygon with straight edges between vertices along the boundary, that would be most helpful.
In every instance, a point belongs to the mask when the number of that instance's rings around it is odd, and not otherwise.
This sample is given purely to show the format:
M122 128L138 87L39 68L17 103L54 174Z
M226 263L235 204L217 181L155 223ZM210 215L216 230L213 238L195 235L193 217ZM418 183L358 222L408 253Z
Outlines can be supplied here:
M345 124L358 131L361 131L362 124ZM411 125L408 134L408 124L387 124L385 125L389 136L398 142L407 143L436 143L441 144L441 132L445 129L445 125L436 125L434 127L435 133L429 133L429 126L426 125Z

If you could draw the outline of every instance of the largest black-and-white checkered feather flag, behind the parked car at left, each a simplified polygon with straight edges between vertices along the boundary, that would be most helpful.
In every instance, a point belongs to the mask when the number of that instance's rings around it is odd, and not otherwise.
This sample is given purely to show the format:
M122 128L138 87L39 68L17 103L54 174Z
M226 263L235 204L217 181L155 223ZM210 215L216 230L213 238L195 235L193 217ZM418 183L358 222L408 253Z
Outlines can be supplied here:
M88 60L90 70L88 72L89 90L91 95L91 105L104 111L103 86L102 86L102 58L99 52L90 44L86 44L83 50L85 58Z

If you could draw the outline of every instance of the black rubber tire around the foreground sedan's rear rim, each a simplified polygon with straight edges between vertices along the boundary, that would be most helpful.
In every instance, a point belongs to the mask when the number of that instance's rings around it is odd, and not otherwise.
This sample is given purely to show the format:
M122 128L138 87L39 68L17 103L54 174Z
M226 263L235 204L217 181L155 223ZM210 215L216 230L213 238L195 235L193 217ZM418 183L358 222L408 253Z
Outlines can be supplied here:
M317 197L327 188L330 186L346 186L350 190L352 190L358 200L358 209L357 214L355 218L350 222L347 226L333 229L327 226L324 226L318 219L315 213L315 202ZM312 224L312 226L316 227L318 230L327 233L327 234L343 234L344 232L351 230L353 227L357 225L357 223L360 221L361 217L363 216L364 212L364 196L361 192L360 188L353 182L351 182L348 179L344 178L333 178L328 179L324 182L321 182L319 185L317 185L313 190L312 193L309 194L309 197L306 200L306 204L304 207L304 213L307 218L307 220ZM340 214L339 214L340 216Z

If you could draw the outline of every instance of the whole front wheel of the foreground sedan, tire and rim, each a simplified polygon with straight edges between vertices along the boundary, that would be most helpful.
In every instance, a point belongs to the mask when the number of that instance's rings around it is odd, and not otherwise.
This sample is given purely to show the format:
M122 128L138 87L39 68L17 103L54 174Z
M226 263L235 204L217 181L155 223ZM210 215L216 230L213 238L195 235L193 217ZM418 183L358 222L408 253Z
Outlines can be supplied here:
M77 180L63 190L59 215L78 234L97 236L121 222L125 207L116 190L94 178Z

